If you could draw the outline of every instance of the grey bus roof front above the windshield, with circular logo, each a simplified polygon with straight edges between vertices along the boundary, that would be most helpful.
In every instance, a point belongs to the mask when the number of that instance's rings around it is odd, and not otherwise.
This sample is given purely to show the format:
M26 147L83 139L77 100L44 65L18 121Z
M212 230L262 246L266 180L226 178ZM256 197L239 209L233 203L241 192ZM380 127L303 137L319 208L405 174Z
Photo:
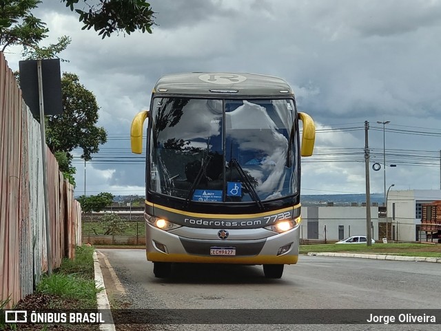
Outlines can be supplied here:
M261 74L189 72L159 78L154 94L192 96L293 96L281 78Z

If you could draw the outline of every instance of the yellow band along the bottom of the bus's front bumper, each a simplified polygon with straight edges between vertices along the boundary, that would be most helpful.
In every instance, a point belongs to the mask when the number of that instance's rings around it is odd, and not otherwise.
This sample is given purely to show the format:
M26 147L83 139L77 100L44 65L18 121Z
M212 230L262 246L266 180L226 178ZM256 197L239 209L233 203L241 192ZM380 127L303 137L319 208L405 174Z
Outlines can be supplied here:
M297 255L257 255L252 257L198 256L187 254L164 254L146 252L147 260L153 262L220 263L220 264L296 264Z

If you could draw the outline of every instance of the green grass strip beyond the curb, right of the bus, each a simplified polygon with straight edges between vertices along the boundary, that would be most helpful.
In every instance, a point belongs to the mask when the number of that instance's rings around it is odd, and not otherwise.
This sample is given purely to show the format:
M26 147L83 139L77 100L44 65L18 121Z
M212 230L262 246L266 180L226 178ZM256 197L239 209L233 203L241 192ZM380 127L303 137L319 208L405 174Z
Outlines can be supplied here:
M367 253L417 257L440 257L441 245L430 244L318 244L300 245L300 254L307 253Z

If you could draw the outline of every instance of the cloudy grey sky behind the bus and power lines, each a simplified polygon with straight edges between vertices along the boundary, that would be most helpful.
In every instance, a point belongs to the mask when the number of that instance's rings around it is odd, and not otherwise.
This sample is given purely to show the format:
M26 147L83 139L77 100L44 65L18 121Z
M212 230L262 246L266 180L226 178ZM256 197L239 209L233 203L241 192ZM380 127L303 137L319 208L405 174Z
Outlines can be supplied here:
M81 2L81 1L80 1ZM68 35L63 72L79 75L101 107L108 142L77 158L76 194L144 193L144 155L130 153L130 123L149 107L157 79L176 72L280 76L298 110L316 122L314 156L302 160L302 193L365 193L365 121L371 164L386 186L440 189L441 0L152 0L153 34L102 40L59 1L34 15L50 38ZM19 51L6 54L13 70ZM379 122L390 121L385 125ZM86 185L84 175L86 173ZM383 193L384 172L370 172Z

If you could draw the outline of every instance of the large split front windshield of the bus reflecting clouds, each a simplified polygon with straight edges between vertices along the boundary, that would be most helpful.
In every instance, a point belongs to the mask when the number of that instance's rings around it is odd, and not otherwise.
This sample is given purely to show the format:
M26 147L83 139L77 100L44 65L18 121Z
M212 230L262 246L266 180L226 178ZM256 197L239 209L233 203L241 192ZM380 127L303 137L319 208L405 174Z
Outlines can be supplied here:
M187 203L294 195L295 118L293 99L154 98L147 189Z

